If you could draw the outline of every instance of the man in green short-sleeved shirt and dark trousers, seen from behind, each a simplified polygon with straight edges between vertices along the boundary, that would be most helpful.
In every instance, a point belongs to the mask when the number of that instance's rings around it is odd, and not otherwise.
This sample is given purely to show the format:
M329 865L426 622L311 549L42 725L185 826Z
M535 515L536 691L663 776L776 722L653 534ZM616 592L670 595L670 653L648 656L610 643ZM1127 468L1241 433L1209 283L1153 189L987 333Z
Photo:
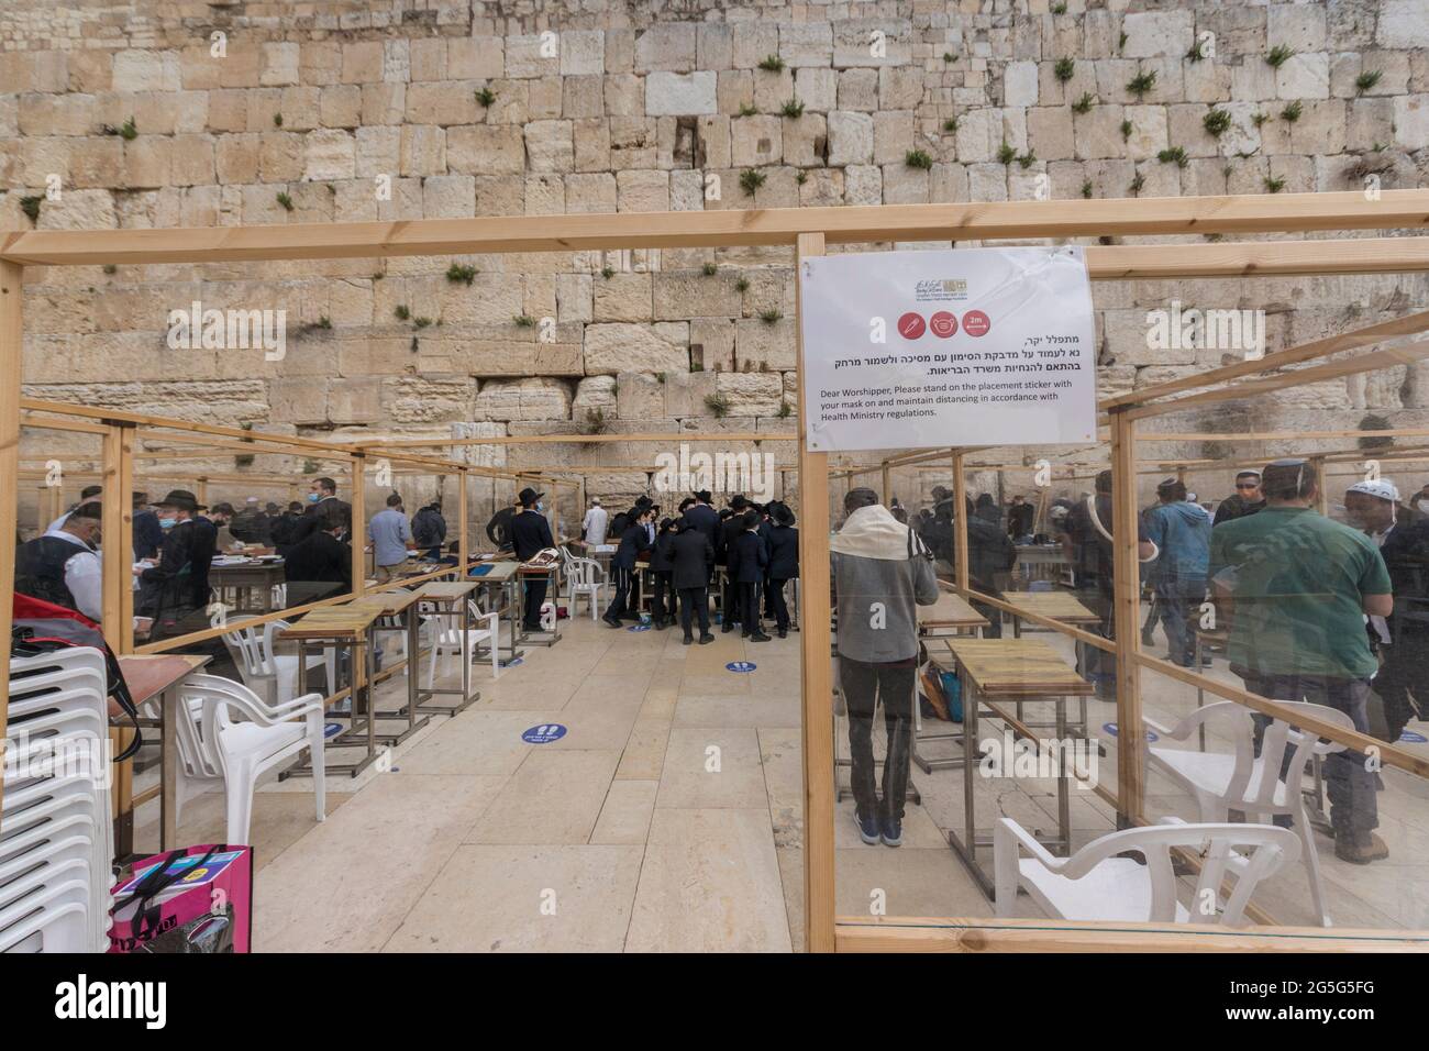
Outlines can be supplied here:
M1212 592L1230 612L1230 669L1252 694L1336 708L1369 732L1369 682L1379 662L1365 615L1386 616L1393 608L1385 561L1362 532L1312 509L1318 479L1310 463L1275 460L1262 473L1262 490L1259 513L1210 533ZM1263 715L1255 719L1260 731L1269 724ZM1386 858L1373 834L1378 778L1365 756L1332 754L1325 778L1336 857L1356 864Z

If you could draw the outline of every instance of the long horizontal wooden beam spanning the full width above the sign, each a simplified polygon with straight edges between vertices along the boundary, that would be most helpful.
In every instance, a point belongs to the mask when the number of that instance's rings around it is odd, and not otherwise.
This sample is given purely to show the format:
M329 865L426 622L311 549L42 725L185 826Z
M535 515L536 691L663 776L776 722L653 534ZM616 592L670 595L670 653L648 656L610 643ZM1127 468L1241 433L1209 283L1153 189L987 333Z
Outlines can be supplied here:
M722 212L486 216L369 223L286 223L170 230L24 230L0 239L21 265L226 263L494 252L1097 237L1102 235L1299 233L1429 227L1429 190L1019 200Z

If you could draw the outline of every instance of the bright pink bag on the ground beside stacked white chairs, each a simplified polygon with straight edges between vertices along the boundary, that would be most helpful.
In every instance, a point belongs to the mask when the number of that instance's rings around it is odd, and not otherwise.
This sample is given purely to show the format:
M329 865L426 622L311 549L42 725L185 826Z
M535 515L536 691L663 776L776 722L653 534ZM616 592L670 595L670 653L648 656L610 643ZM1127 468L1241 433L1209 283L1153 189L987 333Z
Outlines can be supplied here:
M114 887L110 952L249 952L253 848L154 854Z

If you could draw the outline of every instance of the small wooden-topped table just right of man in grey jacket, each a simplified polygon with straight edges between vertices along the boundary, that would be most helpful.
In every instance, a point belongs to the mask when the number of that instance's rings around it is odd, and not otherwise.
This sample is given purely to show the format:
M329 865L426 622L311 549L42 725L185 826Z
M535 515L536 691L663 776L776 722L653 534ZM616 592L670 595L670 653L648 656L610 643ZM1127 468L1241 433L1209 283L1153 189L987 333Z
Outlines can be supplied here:
M992 847L992 835L977 835L977 818L975 806L975 775L977 765L977 715L986 698L996 699L1026 699L1047 698L1056 699L1057 718L1056 729L1059 742L1067 741L1066 734L1066 698L1086 696L1092 692L1092 684L1077 675L1076 668L1052 646L1040 639L946 639L950 662L957 669L957 679L962 684L963 695L963 755L959 765L963 768L963 835L955 829L947 832L947 844L953 852L967 865L973 878L982 887L989 899L995 895L992 878L977 864L977 848ZM1015 716L1003 712L997 705L987 705L990 714L1000 718L1012 729L1016 738L1026 738L1036 742L1036 736ZM1065 758L1065 752L1062 752ZM1057 778L1057 838L1042 839L1047 847L1057 848L1063 854L1072 851L1072 801L1067 795L1067 764L1063 762Z

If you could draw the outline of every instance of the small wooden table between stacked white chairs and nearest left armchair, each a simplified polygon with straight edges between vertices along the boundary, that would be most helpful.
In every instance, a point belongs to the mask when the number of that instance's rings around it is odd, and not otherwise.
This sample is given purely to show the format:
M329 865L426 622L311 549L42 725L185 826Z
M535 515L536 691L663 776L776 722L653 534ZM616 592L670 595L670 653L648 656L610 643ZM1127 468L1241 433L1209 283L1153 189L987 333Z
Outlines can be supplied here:
M159 716L140 716L139 725L159 728L160 762L159 786L134 796L133 758L120 764L114 778L114 854L127 858L134 852L134 808L159 796L159 849L169 851L177 845L177 792L179 792L179 722L174 706L179 702L179 686L184 679L209 663L211 658L203 653L153 653L146 656L121 656L119 668L129 684L134 706L143 708L156 701ZM127 721L126 721L127 722ZM120 744L129 744L124 724L116 725Z

